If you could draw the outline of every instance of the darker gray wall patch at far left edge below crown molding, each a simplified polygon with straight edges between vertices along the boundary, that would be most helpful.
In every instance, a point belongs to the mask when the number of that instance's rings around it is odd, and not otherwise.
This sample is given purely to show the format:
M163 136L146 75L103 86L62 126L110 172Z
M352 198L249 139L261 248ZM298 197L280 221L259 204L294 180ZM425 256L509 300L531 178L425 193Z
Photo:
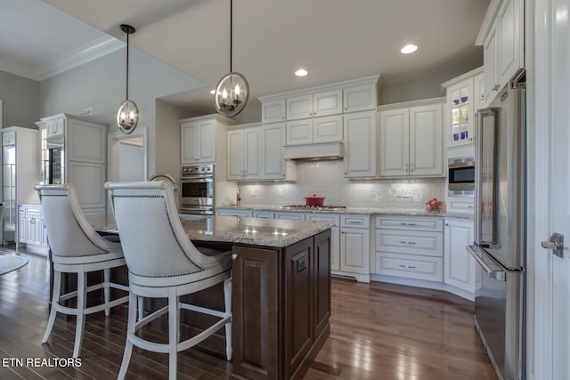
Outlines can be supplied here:
M0 99L3 101L2 126L36 128L39 82L0 71Z

